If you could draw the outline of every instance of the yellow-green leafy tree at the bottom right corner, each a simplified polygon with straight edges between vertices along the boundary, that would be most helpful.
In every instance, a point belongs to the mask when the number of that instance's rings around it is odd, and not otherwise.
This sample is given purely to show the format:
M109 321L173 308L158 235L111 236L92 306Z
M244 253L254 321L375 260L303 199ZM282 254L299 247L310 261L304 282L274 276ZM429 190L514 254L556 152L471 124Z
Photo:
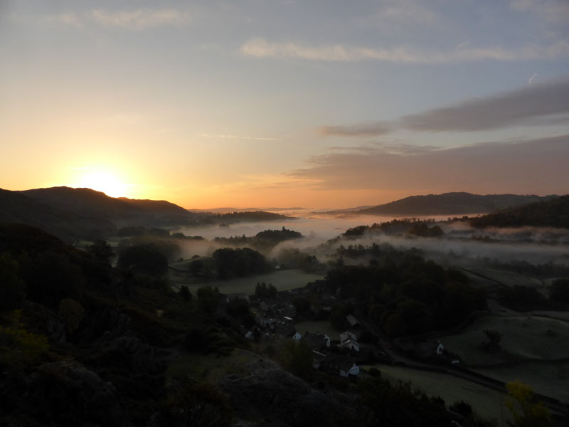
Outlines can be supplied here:
M536 402L533 389L521 381L511 381L506 384L508 406L514 418L509 422L514 427L548 427L551 426L551 413L543 406L542 402Z

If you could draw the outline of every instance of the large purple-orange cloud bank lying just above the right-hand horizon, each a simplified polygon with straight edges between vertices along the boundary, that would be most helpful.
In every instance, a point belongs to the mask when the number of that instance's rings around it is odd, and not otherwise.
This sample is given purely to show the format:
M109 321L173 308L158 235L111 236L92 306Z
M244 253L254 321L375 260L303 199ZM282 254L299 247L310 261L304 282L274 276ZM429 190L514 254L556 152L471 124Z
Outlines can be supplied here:
M422 194L565 194L569 188L569 135L524 142L495 142L413 155L383 148L331 152L289 172L321 190L389 190Z

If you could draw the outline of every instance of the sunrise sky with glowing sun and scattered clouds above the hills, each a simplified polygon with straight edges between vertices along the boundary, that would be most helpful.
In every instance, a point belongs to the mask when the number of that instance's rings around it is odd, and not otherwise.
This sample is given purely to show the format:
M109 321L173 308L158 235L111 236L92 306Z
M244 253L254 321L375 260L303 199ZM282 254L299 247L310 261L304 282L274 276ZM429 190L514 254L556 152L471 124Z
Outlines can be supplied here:
M567 194L569 0L0 0L0 187Z

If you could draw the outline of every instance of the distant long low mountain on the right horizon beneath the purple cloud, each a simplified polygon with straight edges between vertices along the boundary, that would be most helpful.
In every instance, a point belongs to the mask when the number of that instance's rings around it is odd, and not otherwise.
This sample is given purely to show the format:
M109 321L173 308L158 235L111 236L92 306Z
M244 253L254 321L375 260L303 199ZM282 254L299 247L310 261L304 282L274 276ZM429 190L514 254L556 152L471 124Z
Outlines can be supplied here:
M429 194L427 196L405 197L405 199L392 201L388 204L354 210L351 211L351 214L393 216L485 214L536 201L547 201L556 197L558 196L519 196L516 194L487 194L481 196L464 192ZM345 211L338 212L346 213Z

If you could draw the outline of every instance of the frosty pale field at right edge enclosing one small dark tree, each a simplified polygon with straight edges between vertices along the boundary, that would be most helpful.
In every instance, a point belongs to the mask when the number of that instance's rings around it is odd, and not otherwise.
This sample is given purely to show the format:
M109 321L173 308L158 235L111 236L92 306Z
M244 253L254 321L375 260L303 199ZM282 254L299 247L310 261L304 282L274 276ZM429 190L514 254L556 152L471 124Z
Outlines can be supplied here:
M485 329L502 334L501 351L479 349ZM480 317L456 335L440 337L445 349L459 354L463 362L492 365L523 359L555 360L569 357L569 323L531 315Z

